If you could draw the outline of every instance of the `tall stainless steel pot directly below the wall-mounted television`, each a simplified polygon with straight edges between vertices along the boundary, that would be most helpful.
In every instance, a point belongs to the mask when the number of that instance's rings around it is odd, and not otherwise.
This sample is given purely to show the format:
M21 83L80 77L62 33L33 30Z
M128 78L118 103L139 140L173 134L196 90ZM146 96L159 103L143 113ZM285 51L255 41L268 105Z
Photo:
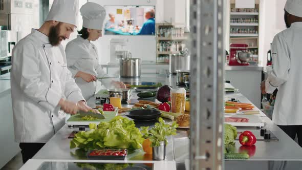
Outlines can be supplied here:
M119 59L120 77L140 77L141 59L140 58L122 58Z

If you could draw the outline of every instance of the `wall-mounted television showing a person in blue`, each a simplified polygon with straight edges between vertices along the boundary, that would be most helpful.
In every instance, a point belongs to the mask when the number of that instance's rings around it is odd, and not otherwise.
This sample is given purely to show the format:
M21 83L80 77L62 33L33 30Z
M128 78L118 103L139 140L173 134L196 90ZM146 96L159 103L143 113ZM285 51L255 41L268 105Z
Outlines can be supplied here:
M105 35L155 35L155 6L104 6Z

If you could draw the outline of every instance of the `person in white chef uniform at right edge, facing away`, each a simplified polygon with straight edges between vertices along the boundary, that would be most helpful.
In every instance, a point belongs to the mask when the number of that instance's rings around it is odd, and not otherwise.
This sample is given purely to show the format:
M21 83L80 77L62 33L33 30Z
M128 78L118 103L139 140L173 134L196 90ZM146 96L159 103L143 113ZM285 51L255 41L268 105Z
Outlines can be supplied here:
M284 10L287 29L273 39L273 71L261 90L271 94L278 89L273 122L292 139L297 135L302 147L302 1L288 0Z

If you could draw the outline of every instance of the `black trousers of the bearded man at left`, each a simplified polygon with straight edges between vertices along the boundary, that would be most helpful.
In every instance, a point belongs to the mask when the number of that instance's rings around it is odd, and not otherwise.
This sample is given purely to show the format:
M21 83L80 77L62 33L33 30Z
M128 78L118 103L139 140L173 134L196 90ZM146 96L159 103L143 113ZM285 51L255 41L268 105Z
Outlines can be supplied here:
M45 143L20 143L23 163L31 159L44 145Z

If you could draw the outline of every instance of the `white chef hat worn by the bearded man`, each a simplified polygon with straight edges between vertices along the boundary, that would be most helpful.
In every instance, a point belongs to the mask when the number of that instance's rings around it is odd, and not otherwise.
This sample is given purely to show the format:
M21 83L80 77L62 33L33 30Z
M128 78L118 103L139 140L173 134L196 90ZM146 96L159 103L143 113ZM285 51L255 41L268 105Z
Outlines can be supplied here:
M78 0L54 0L45 21L56 20L76 27L78 10Z

